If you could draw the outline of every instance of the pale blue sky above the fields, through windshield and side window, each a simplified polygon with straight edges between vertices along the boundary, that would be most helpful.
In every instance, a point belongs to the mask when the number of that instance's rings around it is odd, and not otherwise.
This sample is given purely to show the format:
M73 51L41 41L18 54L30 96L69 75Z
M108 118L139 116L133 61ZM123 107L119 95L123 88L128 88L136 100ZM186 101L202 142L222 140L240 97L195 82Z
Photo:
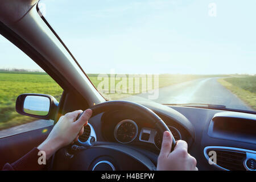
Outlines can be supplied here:
M75 2L40 8L86 73L256 73L255 0ZM9 44L0 68L39 69Z

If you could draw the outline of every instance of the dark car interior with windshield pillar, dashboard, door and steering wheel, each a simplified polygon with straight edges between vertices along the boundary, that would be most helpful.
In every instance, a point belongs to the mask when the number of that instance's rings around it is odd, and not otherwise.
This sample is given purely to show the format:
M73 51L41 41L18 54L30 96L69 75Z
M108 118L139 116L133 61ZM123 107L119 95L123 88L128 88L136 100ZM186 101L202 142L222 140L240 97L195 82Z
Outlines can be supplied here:
M200 171L256 170L254 111L108 101L38 12L36 0L2 0L0 33L51 76L63 94L58 102L48 94L23 93L16 99L16 112L56 123L70 111L93 110L79 140L57 151L48 170L155 170L166 130L172 133L173 145L180 139L188 143ZM44 102L47 115L24 111L27 102ZM0 138L0 168L42 143L53 126ZM127 137L122 137L123 129L130 132Z

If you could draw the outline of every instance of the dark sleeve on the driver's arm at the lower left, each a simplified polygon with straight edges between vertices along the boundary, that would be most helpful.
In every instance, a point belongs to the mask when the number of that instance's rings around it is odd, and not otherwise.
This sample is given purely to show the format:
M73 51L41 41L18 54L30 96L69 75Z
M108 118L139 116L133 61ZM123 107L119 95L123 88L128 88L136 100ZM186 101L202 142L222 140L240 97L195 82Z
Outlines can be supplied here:
M14 163L9 164L6 163L5 166L3 166L3 171L37 171L42 170L44 167L46 167L45 164L39 164L38 159L38 148L33 148L30 152L28 152L26 155L24 155L19 160L16 160Z

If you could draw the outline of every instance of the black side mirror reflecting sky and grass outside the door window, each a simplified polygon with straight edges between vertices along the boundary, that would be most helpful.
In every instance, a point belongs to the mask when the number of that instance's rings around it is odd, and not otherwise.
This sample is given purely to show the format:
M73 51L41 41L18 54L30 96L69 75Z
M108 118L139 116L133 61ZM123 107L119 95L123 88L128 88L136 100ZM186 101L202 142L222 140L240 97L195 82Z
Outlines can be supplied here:
M16 99L19 114L40 119L55 119L59 102L47 94L21 94Z

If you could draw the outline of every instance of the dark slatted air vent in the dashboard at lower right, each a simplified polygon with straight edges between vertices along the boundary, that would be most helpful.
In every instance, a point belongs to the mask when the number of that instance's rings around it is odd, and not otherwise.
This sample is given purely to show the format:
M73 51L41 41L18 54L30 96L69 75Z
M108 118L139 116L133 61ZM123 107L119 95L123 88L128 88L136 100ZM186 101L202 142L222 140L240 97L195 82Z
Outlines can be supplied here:
M228 169L230 171L246 170L245 167L243 167L243 161L246 159L245 152L209 148L207 150L207 154L209 154L209 151L216 152L217 166Z

